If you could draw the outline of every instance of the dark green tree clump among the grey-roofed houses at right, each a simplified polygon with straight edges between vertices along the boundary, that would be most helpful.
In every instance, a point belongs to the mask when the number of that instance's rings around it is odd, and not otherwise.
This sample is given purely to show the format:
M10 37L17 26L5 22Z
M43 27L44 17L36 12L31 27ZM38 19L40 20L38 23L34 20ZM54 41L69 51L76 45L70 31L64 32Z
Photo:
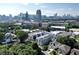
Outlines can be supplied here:
M75 35L73 38L70 36L60 36L57 38L57 41L62 44L69 45L71 48L79 49L79 35Z

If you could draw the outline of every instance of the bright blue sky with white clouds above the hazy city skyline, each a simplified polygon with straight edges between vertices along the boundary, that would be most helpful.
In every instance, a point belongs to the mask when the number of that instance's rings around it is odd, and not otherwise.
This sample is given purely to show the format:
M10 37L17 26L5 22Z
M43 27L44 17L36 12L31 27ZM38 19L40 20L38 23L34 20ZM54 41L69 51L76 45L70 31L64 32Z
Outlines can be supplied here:
M40 9L42 15L53 16L55 13L62 16L71 14L79 15L79 3L0 3L0 14L13 16L19 13L36 14L36 10Z

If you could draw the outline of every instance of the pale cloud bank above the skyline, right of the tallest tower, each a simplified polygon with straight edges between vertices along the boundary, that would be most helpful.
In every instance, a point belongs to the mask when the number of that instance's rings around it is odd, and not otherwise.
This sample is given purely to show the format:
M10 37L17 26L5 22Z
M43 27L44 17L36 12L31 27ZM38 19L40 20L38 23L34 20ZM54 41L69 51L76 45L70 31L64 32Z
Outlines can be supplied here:
M48 16L53 16L55 13L58 15L62 16L64 14L70 14L72 16L79 15L79 10L73 9L73 8L59 8L59 9L51 9L51 10L43 10L42 14L48 15Z

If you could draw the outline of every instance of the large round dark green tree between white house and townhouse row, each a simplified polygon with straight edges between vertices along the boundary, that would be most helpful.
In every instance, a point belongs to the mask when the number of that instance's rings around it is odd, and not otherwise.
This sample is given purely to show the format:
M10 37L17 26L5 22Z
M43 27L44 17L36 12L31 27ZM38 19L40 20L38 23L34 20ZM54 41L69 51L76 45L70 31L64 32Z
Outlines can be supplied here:
M28 38L28 33L23 32L23 31L16 31L15 33L17 35L17 37L20 39L20 43L24 43L25 39Z

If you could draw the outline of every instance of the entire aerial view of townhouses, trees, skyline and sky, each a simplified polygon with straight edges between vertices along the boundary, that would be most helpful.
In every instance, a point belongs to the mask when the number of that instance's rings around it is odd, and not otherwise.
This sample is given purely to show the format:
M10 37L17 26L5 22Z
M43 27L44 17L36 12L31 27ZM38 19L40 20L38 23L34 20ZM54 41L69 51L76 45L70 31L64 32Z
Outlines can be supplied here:
M0 3L0 55L79 55L79 4Z

